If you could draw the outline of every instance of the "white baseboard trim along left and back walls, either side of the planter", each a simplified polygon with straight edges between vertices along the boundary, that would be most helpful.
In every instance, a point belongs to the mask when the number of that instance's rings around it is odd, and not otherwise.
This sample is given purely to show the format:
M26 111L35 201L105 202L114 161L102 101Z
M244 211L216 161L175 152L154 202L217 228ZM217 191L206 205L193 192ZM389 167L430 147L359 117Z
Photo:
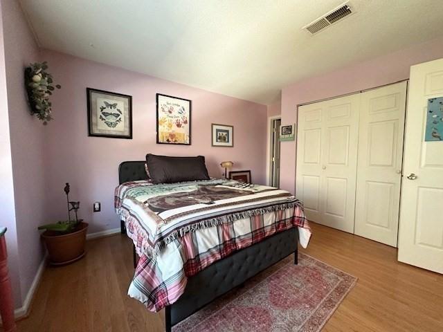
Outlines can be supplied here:
M102 230L101 232L89 233L87 234L86 239L93 240L100 237L109 237L110 235L114 235L117 233L120 233L120 228L112 228L111 230ZM37 287L39 286L40 280L42 279L44 268L46 267L46 257L47 254L44 255L42 262L37 269L37 273L35 273L33 283L30 285L28 294L26 294L23 306L14 310L15 320L26 318L29 314L30 306L33 303L35 291L37 291Z

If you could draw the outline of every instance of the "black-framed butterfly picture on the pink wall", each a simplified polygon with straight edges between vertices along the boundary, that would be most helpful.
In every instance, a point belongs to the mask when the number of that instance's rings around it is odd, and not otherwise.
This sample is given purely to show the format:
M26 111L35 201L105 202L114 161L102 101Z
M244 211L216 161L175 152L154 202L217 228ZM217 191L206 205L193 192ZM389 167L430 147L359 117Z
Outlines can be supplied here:
M88 136L132 138L132 96L86 89Z

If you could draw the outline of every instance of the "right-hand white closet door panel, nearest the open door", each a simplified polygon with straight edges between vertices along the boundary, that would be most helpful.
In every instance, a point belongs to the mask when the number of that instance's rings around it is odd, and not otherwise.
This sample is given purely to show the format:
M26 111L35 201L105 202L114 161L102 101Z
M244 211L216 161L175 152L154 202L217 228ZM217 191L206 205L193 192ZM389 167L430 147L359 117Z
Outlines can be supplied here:
M355 234L397 246L407 83L361 94Z

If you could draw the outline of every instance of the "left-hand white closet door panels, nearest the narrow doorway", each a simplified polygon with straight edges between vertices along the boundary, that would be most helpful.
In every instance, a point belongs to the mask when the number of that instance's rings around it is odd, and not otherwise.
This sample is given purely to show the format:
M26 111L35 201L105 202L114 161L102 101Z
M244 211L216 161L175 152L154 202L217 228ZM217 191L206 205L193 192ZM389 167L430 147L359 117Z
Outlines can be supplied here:
M298 108L296 195L307 219L354 232L360 95Z

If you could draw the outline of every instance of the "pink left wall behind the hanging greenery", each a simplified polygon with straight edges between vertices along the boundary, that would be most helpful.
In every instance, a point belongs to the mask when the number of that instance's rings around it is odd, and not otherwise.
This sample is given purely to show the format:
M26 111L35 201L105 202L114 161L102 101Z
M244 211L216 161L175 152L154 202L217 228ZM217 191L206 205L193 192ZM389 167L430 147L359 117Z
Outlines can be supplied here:
M39 60L39 49L19 2L3 0L1 9L18 249L18 257L10 264L17 265L13 268L18 268L20 275L19 282L17 278L12 279L18 307L26 297L43 257L37 226L46 221L44 128L30 116L23 79L25 66Z

